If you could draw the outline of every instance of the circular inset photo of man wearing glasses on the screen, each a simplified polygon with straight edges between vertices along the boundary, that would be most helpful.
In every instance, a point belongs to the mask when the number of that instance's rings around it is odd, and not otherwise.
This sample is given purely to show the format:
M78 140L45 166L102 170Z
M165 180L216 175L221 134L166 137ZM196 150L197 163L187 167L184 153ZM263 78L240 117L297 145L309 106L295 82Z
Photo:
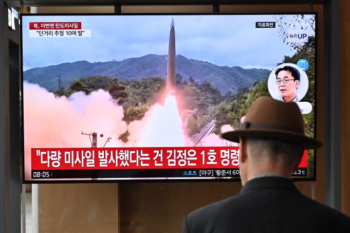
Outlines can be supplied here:
M274 99L298 102L306 95L309 79L305 71L296 64L283 63L271 71L267 88Z

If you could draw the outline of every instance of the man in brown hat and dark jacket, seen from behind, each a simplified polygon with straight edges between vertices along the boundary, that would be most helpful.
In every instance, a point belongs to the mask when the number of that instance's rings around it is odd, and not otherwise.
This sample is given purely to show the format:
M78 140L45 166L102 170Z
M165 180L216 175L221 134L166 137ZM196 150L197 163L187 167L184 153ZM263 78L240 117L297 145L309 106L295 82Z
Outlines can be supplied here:
M243 188L190 213L183 233L350 232L345 214L306 198L290 180L303 150L322 146L304 135L295 102L258 98L240 128L222 137L240 142Z

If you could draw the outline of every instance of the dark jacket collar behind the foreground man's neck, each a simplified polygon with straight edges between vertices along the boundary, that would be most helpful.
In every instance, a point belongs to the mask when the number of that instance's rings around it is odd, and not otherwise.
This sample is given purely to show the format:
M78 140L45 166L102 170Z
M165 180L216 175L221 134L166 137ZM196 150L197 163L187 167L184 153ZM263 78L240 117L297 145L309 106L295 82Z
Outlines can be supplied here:
M254 178L253 180L248 181L245 186L243 186L240 194L243 194L248 191L255 189L285 189L290 191L299 192L297 187L293 184L291 180L285 177L277 176L268 176Z

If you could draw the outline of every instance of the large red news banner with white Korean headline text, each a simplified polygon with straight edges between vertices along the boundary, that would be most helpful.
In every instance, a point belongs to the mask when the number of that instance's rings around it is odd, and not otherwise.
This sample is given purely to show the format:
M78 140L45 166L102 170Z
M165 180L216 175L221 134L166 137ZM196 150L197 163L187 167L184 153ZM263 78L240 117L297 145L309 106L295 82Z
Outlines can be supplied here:
M238 147L32 148L32 170L238 168ZM304 151L299 168L307 167Z

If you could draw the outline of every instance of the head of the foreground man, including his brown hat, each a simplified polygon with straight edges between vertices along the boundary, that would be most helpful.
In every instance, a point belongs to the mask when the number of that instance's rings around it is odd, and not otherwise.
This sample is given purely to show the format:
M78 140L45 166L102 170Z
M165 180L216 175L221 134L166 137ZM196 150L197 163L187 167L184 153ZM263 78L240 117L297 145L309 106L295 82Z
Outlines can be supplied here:
M322 146L320 141L304 135L304 120L297 103L270 97L256 99L240 127L222 137L240 142L243 185L250 177L264 172L290 177L304 149Z

